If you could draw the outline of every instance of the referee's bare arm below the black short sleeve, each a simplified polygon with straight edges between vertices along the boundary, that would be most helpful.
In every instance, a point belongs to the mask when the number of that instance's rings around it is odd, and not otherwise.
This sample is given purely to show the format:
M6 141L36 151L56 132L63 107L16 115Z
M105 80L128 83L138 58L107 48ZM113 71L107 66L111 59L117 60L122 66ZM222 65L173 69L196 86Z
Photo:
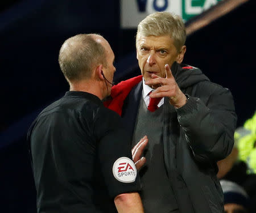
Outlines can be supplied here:
M118 213L142 213L143 206L139 193L119 194L114 199L115 207Z

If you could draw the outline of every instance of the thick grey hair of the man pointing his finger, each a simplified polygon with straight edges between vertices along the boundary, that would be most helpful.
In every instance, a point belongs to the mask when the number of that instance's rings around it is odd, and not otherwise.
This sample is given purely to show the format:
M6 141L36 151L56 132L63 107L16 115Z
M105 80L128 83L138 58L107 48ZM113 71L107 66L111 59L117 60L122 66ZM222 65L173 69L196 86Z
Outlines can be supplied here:
M179 51L185 44L185 24L179 15L170 12L155 12L144 18L138 25L136 47L141 36L164 36L170 35L174 45Z

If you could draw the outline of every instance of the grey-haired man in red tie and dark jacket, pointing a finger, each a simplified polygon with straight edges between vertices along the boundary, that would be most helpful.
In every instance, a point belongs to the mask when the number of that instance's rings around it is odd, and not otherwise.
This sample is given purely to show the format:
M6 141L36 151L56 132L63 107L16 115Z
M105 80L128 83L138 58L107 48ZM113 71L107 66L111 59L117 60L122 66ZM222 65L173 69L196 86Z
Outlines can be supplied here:
M136 37L142 76L114 86L105 103L122 116L133 145L148 136L139 175L149 213L224 211L216 162L233 147L233 97L201 70L182 64L185 39L179 16L148 15Z

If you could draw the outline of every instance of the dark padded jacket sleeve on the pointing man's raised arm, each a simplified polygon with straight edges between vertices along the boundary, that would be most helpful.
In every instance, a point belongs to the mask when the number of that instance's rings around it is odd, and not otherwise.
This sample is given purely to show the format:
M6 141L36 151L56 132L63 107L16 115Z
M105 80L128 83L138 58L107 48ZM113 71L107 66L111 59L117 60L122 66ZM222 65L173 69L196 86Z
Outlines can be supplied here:
M201 82L194 96L176 111L197 161L213 163L229 155L234 144L237 116L232 94L227 88Z

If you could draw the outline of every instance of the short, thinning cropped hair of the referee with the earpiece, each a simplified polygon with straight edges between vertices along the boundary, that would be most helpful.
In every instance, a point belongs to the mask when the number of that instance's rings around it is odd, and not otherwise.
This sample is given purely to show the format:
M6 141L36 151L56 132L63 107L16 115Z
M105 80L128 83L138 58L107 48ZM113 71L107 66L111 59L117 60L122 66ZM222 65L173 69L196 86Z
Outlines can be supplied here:
M105 48L96 41L97 34L79 34L67 39L60 48L59 64L68 80L88 79L98 63L106 64Z

